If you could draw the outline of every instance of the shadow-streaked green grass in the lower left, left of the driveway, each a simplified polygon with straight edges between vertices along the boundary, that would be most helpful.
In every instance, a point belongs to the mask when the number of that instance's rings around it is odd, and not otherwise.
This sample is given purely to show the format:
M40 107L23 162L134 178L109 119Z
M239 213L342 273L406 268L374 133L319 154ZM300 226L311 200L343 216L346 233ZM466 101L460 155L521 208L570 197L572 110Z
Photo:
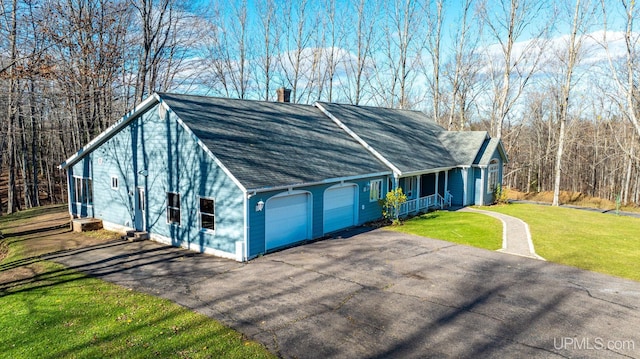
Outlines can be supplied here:
M0 230L15 233L12 217L33 222L50 211L2 217ZM38 235L44 234L51 236ZM41 261L38 250L24 248L38 240L15 233L3 241L0 358L273 357L239 332L168 300Z

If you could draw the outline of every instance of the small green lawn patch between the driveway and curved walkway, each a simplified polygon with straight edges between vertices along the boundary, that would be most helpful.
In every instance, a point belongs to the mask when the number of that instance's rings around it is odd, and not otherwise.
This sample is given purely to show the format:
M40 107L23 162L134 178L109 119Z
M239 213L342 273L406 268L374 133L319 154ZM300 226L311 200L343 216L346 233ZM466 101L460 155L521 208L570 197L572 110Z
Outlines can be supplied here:
M437 211L387 228L490 250L502 248L502 223L478 213Z

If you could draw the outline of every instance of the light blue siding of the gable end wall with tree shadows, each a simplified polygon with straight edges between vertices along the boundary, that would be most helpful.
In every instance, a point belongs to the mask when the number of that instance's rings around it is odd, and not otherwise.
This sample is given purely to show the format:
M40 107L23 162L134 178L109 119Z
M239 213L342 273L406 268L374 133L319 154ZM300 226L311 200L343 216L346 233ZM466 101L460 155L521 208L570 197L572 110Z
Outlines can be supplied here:
M90 161L93 216L133 227L136 189L146 193L146 228L192 250L235 252L244 239L243 192L177 121L165 120L154 106L87 155L71 169L74 175ZM118 189L111 177L118 177ZM180 224L168 224L167 192L180 194ZM200 229L200 197L215 200L215 230ZM91 216L91 215L90 215Z

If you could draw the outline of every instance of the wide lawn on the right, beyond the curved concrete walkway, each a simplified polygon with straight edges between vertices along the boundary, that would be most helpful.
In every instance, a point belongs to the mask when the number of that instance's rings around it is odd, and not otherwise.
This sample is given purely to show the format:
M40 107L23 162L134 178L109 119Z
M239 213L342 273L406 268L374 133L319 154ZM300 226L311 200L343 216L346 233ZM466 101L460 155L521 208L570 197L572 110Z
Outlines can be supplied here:
M548 261L640 281L640 219L532 204L484 207L529 224Z

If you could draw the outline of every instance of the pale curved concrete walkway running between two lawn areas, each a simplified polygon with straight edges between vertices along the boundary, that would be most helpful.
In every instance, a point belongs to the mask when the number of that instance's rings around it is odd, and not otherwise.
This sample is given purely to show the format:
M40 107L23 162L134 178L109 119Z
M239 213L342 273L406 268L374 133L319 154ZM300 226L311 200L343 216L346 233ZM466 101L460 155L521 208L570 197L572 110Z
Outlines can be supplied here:
M486 214L502 222L502 249L499 249L498 252L544 260L544 258L536 254L531 241L529 225L523 220L502 213L469 207L462 208L459 211Z

